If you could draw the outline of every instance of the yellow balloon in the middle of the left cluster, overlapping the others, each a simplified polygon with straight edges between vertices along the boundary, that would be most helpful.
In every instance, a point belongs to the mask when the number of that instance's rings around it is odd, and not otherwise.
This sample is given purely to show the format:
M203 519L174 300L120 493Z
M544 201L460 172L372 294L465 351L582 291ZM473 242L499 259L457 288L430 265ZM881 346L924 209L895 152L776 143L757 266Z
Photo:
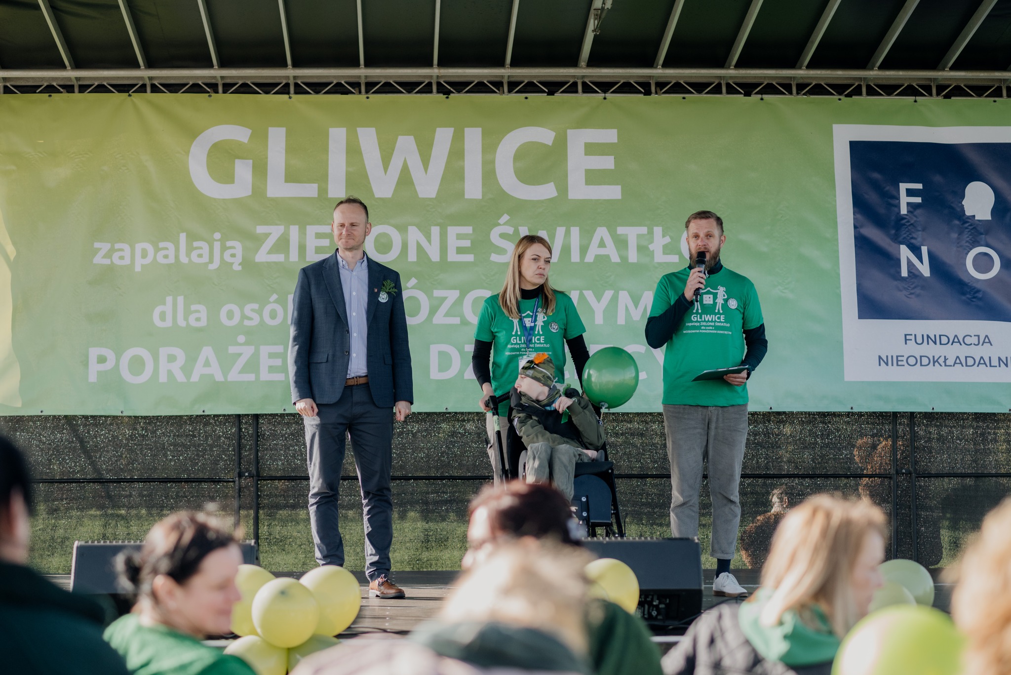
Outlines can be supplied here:
M294 579L267 582L253 598L253 625L275 647L297 647L319 621L319 604L312 591Z

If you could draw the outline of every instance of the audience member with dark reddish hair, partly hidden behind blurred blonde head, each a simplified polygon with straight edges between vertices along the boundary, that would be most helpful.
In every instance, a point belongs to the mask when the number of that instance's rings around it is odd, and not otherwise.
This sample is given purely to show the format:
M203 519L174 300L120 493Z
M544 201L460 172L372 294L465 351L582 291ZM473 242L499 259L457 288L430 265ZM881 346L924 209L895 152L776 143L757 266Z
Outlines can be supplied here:
M520 481L488 486L470 503L463 567L473 567L501 543L524 537L577 550L577 532L568 502L554 488ZM589 661L598 675L660 673L660 652L641 618L594 599L586 604L585 620Z

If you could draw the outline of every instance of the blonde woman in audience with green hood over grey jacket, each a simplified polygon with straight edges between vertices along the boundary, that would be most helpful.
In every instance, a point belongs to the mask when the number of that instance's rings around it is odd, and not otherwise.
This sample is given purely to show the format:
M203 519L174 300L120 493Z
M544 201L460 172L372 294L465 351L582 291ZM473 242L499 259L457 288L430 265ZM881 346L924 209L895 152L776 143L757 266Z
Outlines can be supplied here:
M883 583L885 536L885 514L869 502L811 497L779 523L754 596L703 614L663 672L828 675Z

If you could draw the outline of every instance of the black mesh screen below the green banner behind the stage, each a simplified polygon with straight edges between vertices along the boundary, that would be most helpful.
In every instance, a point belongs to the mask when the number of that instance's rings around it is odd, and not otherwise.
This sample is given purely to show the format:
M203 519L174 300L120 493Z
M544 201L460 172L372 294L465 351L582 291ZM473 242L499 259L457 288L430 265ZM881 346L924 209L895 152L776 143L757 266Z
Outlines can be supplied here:
M611 458L630 535L669 534L663 419L607 413ZM0 432L28 455L38 481L32 564L70 571L75 539L139 539L181 508L216 509L259 536L266 567L313 566L305 446L294 415L4 417ZM420 413L396 425L393 564L455 569L469 499L489 480L479 413ZM986 512L1011 491L1011 415L752 413L741 481L735 566L757 567L790 504L819 492L862 495L892 519L890 556L947 566ZM348 566L362 569L361 501L353 448L342 484ZM238 480L237 480L238 479ZM239 501L237 502L237 496ZM700 503L708 557L712 505Z

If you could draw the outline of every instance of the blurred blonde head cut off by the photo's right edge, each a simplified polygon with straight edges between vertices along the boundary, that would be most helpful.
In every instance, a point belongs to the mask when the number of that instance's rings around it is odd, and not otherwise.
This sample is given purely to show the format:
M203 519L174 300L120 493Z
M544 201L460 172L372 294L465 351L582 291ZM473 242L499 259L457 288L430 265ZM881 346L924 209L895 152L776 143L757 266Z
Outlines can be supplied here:
M1011 672L1011 497L983 519L956 568L951 617L967 638L973 675Z

